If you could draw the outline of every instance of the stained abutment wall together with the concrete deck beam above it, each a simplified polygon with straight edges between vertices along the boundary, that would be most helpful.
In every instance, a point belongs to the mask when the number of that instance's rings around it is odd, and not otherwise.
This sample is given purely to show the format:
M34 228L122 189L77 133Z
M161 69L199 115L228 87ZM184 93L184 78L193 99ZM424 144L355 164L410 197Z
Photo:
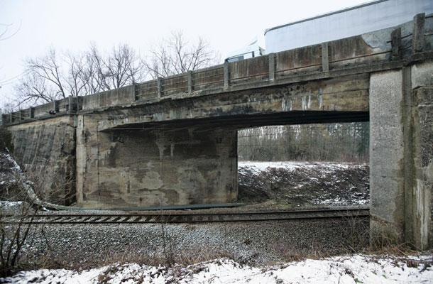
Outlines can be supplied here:
M235 202L237 129L365 120L368 82L368 75L349 76L78 115L78 204Z

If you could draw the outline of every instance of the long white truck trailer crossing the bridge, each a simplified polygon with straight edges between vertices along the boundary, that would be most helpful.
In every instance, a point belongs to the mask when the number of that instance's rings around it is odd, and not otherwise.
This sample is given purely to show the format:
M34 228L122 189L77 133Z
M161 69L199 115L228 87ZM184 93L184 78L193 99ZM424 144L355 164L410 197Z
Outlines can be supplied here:
M265 31L266 53L348 38L433 13L433 0L379 0L286 23Z

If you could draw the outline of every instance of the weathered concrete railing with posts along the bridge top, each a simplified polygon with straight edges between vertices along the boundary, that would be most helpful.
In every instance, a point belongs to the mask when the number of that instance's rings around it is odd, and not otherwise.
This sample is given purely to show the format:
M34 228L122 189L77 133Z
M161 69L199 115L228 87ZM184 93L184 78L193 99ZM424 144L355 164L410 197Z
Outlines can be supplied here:
M19 124L56 114L93 111L140 102L158 102L168 97L248 89L256 83L275 84L278 80L282 82L286 78L295 78L299 75L402 60L426 50L433 50L433 15L418 14L413 21L394 28L256 58L225 62L86 97L60 99L38 107L3 114L2 121L6 125Z

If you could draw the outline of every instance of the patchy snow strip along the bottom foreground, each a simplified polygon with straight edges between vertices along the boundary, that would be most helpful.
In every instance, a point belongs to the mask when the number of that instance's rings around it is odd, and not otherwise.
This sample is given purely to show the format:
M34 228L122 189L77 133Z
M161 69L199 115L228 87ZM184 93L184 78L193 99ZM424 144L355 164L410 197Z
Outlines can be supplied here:
M433 283L433 256L335 256L273 268L241 266L228 258L182 268L115 263L89 271L21 272L0 283Z

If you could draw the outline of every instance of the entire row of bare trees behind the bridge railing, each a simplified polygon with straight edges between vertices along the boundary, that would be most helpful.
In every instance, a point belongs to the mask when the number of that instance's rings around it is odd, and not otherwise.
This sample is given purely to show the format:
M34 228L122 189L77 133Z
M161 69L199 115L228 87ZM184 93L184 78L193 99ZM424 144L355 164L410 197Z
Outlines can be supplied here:
M54 48L26 60L26 70L15 85L16 105L28 107L69 96L86 96L143 82L146 75L166 77L214 65L219 56L199 38L191 44L181 31L173 32L150 51L145 62L126 44L101 53L91 44L84 53L57 53Z

